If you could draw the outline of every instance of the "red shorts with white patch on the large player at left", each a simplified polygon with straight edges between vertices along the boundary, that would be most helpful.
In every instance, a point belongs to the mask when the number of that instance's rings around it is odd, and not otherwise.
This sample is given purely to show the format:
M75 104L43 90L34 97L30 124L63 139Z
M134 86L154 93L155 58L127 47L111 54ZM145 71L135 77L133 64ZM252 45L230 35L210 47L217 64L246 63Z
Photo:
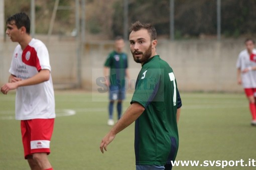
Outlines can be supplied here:
M53 133L54 118L21 120L24 156L32 153L50 154L50 140Z

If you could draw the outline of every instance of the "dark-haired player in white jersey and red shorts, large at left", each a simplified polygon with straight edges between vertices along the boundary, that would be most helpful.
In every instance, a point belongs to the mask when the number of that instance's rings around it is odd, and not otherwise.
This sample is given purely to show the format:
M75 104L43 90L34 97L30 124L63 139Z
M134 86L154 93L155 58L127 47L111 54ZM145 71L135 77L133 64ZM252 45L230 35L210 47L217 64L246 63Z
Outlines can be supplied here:
M7 35L19 44L14 50L9 82L1 92L16 90L16 119L21 120L24 156L31 169L48 169L55 99L49 53L45 44L30 35L30 19L24 12L7 20Z

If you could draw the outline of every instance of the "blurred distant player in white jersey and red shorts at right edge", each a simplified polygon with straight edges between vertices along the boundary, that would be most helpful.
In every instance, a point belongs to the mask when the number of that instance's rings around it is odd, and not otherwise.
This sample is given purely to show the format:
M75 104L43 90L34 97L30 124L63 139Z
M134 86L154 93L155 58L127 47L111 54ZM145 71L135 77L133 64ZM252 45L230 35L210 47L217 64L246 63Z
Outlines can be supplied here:
M236 62L237 82L242 84L249 101L251 125L256 125L256 49L254 40L247 38L244 41L246 49L242 50Z

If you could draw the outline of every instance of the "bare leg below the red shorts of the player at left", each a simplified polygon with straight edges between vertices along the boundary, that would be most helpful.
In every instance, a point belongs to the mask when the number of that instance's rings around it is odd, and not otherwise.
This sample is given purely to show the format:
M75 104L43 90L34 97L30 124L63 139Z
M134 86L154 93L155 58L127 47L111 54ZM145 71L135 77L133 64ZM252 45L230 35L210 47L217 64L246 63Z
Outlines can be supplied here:
M47 153L33 153L33 155L28 156L28 162L32 170L49 169L52 167Z

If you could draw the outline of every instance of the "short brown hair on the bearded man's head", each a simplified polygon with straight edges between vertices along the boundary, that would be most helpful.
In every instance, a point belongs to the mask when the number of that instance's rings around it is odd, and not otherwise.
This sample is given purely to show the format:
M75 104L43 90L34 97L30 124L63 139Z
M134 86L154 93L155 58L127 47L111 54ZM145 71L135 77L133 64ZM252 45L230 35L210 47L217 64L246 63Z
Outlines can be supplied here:
M136 21L130 27L130 32L138 31L140 29L147 29L148 32L150 33L151 40L157 39L157 31L156 31L155 27L150 23L143 24L140 21Z

